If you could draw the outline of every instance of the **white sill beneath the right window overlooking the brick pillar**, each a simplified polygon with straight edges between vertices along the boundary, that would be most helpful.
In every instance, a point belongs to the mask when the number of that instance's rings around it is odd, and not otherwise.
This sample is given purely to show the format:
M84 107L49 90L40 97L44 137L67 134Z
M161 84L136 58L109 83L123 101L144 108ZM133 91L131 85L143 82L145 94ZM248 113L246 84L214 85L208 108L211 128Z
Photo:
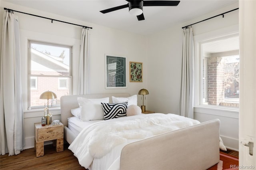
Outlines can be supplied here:
M239 119L239 109L227 107L212 107L212 106L194 106L194 113L203 113L208 115L216 115L221 117L230 117Z

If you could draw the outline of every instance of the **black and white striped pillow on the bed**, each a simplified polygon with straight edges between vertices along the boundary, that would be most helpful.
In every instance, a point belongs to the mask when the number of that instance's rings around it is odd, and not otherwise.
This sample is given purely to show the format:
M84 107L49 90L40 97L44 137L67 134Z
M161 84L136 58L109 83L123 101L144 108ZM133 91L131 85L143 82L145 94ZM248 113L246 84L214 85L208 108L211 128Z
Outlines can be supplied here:
M126 116L128 102L123 103L101 103L104 112L104 120Z

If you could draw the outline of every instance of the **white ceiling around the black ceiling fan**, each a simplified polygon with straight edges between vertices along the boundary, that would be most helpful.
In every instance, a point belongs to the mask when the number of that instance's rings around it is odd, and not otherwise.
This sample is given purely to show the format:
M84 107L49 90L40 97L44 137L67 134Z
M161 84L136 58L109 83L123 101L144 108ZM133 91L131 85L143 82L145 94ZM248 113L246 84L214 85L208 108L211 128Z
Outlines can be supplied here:
M164 30L175 23L185 22L238 2L238 0L181 0L178 6L146 6L143 8L145 20L138 21L136 16L129 14L128 8L107 14L99 12L100 10L127 4L125 0L4 1L141 35ZM90 27L90 25L88 26Z

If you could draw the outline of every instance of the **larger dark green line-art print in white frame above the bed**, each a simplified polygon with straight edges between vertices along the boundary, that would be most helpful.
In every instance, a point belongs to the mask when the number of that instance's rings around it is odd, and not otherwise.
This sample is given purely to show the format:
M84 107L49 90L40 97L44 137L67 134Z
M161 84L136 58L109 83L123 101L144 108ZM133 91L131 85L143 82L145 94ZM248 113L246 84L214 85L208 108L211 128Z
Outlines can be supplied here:
M106 89L126 88L126 57L105 55Z

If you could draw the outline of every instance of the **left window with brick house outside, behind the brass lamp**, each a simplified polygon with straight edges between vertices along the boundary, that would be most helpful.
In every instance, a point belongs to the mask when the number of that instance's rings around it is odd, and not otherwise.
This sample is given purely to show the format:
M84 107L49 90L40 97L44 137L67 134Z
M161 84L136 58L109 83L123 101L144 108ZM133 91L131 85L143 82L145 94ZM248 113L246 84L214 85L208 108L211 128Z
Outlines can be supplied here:
M58 107L60 97L71 94L72 47L46 42L29 41L28 107L45 107L47 100L39 99L44 91L53 91L57 99L49 107Z

